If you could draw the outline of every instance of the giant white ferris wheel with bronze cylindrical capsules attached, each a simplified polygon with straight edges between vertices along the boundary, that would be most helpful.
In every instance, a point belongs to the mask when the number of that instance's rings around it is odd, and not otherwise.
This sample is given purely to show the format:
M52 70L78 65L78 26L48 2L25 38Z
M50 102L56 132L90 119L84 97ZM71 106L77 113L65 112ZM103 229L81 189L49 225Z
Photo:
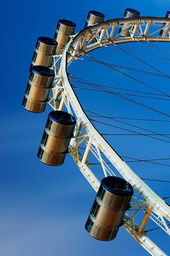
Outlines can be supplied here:
M97 192L86 222L87 232L110 241L123 226L151 255L166 255L147 236L145 228L151 219L170 235L169 205L131 170L91 123L71 85L67 68L100 47L130 42L170 43L170 12L165 18L140 17L138 11L126 9L123 18L104 18L103 13L90 11L84 29L77 34L74 22L59 20L54 39L37 39L22 105L35 113L43 112L47 103L53 108L38 150L40 161L58 166L69 153ZM93 172L90 157L97 159L103 172L105 178L101 182ZM137 209L132 216L126 213L129 208ZM143 215L137 224L135 216L139 212Z

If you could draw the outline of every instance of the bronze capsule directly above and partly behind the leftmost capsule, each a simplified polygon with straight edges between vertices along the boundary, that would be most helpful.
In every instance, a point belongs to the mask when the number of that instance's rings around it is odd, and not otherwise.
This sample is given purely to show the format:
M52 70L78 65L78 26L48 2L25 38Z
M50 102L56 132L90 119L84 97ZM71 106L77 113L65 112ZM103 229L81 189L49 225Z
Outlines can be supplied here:
M32 66L52 67L56 48L57 42L54 39L45 36L38 37L31 61L31 68Z

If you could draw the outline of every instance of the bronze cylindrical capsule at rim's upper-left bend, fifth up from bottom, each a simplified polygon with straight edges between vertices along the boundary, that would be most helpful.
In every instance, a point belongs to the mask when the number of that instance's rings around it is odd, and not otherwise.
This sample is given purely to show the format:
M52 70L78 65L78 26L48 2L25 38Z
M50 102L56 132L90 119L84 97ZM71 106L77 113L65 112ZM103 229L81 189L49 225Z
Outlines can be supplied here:
M76 24L70 20L58 20L55 30L54 39L58 46L56 51L64 49L65 45L70 41L70 36L74 35Z

